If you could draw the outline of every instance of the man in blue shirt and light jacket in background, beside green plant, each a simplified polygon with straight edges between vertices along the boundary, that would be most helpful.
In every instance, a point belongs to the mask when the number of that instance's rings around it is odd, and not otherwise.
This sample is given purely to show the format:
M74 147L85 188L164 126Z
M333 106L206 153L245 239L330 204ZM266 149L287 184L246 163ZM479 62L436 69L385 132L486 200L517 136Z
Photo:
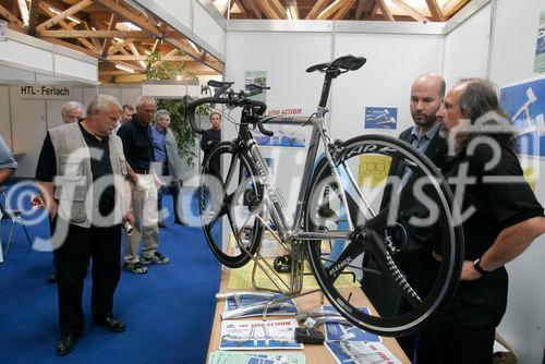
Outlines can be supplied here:
M168 190L172 194L174 205L174 223L184 225L182 221L182 202L180 189L183 185L183 162L178 151L178 143L170 130L170 113L159 110L155 113L155 126L152 128L154 139L154 159L157 162L158 174L168 179L166 186L159 189L157 208L159 210L159 227L166 227L162 216L162 195Z

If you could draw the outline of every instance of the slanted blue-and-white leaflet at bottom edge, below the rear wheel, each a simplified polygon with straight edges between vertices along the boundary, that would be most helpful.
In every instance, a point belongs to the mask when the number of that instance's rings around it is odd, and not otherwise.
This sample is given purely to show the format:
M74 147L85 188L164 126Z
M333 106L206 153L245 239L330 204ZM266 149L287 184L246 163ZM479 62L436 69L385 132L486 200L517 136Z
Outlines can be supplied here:
M382 342L328 341L326 347L341 364L401 364Z

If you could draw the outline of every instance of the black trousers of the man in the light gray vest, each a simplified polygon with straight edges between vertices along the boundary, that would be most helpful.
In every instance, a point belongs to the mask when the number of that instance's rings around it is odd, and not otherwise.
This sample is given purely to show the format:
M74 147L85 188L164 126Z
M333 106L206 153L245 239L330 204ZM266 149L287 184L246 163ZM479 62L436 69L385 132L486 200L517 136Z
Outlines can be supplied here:
M68 223L56 219L58 223ZM53 252L59 294L61 335L80 333L84 328L83 281L93 258L92 313L102 319L113 308L113 293L121 275L121 226L81 228L69 225L64 243Z

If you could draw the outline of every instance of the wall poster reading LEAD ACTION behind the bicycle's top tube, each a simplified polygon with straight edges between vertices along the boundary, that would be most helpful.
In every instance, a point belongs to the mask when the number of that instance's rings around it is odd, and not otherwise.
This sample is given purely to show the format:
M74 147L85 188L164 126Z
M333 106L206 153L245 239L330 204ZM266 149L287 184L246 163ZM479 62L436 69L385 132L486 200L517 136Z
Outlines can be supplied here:
M306 105L270 104L266 114L270 117L303 117L312 112ZM258 130L252 132L255 141L262 146L303 148L307 138L304 126L267 124L267 130L275 133L272 136L262 134Z

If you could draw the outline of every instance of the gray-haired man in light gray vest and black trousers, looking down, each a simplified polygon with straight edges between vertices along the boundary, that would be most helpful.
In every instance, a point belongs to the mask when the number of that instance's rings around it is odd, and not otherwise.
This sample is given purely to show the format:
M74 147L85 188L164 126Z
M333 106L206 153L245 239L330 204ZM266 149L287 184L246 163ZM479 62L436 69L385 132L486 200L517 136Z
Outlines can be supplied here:
M57 354L70 353L84 329L83 282L93 258L93 321L112 332L125 325L113 316L121 267L121 222L134 223L121 139L112 134L121 106L98 95L84 121L49 130L36 180L52 220L61 338Z

